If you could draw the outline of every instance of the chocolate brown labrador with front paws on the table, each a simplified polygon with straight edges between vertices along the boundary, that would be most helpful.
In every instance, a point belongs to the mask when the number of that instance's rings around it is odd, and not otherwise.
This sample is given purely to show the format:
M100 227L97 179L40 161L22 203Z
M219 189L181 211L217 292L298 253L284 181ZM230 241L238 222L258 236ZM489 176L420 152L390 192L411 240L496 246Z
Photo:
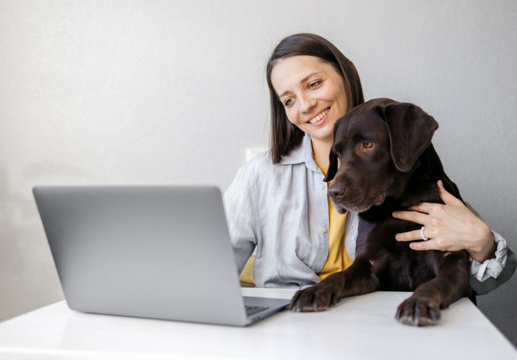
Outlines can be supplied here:
M414 291L396 319L424 326L440 319L440 309L470 295L466 251L416 251L395 239L421 224L393 218L392 212L421 202L443 204L438 180L461 199L431 143L437 128L419 107L390 99L370 100L338 119L324 181L333 179L328 193L339 213L359 213L356 257L345 271L296 292L291 310L326 310L345 296L376 290Z

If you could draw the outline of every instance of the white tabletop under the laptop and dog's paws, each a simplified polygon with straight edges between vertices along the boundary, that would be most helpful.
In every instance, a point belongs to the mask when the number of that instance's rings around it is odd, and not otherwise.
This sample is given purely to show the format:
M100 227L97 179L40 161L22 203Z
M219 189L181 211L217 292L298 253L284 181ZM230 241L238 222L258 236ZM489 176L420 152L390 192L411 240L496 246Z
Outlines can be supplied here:
M283 298L294 292L242 289ZM350 297L329 311L283 311L244 328L86 314L59 302L0 323L0 359L517 359L466 298L443 311L437 326L399 324L395 310L409 294Z

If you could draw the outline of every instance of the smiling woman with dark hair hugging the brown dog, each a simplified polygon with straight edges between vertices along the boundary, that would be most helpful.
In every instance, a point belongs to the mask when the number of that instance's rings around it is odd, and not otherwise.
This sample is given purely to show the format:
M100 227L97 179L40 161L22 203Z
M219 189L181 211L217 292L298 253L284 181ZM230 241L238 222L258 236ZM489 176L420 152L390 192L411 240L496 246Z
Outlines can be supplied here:
M271 151L239 169L224 203L239 273L256 247L247 268L258 287L302 288L343 271L355 256L358 216L337 213L323 178L334 123L364 99L354 64L317 35L280 41L266 72ZM440 191L445 205L423 203L393 216L425 226L429 241L412 243L415 250L467 250L474 291L495 289L515 270L513 252L461 201ZM396 237L418 239L420 231Z

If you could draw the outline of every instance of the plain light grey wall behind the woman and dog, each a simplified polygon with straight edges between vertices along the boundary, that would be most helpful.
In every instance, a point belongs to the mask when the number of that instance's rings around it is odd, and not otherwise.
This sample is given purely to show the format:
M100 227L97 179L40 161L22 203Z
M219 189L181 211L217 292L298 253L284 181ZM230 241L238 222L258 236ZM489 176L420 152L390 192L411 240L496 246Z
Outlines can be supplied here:
M414 102L517 250L514 1L0 1L0 320L63 299L31 189L216 184L268 145L265 64L312 32L366 99ZM517 344L517 276L479 308Z

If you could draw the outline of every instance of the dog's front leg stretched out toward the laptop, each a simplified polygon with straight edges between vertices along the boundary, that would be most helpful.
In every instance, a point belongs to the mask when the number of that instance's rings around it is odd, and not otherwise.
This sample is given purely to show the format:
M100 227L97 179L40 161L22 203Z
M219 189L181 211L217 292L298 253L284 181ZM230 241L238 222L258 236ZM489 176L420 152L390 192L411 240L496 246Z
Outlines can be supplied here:
M291 299L293 311L323 311L345 296L362 295L379 288L372 263L356 259L345 271L329 275L314 286L298 290Z

